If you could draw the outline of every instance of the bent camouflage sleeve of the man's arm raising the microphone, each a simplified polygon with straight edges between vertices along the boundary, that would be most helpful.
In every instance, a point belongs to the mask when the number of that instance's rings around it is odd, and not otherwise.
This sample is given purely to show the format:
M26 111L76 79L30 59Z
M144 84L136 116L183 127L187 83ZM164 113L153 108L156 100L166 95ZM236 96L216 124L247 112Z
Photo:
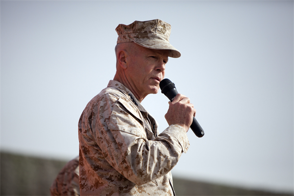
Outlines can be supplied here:
M103 156L137 185L170 172L189 147L184 128L175 124L147 140L142 114L127 99L107 95L95 108L92 128Z

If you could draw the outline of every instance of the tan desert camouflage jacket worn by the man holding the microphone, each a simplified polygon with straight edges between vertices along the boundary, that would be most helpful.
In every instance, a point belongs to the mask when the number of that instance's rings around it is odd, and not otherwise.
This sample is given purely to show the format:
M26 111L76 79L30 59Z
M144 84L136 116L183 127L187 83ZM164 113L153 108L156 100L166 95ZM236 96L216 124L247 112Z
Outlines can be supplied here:
M111 80L79 123L81 196L172 196L171 170L190 146L183 127L157 136L157 123L135 96Z

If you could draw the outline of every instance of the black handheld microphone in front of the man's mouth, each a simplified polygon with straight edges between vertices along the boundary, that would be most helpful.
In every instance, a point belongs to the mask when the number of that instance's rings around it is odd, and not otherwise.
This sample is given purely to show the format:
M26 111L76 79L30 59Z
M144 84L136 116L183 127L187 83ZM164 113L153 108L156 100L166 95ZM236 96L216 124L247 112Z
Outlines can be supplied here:
M167 78L161 80L161 82L159 83L159 87L161 89L161 93L167 96L170 99L170 101L172 101L174 97L178 94L174 83L172 83L172 81ZM200 124L197 122L195 117L193 117L193 123L191 124L190 128L197 137L203 137L204 131Z

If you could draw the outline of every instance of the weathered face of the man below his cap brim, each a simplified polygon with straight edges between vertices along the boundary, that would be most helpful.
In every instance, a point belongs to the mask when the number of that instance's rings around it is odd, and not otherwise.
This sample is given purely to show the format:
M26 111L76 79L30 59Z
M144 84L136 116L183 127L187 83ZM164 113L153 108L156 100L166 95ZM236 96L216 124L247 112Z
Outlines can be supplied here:
M165 75L168 51L147 49L134 44L129 57L130 69L127 70L131 79L129 82L132 82L133 91L139 100L143 100L148 94L158 93L159 82Z

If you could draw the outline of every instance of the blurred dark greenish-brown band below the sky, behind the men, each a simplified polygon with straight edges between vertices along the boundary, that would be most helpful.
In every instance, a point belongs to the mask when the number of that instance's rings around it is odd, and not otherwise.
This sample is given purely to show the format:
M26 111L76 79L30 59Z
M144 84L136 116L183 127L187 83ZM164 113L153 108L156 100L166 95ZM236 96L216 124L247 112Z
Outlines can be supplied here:
M74 158L74 157L73 157ZM0 196L50 196L49 188L67 162L0 152ZM177 196L292 196L173 178Z

